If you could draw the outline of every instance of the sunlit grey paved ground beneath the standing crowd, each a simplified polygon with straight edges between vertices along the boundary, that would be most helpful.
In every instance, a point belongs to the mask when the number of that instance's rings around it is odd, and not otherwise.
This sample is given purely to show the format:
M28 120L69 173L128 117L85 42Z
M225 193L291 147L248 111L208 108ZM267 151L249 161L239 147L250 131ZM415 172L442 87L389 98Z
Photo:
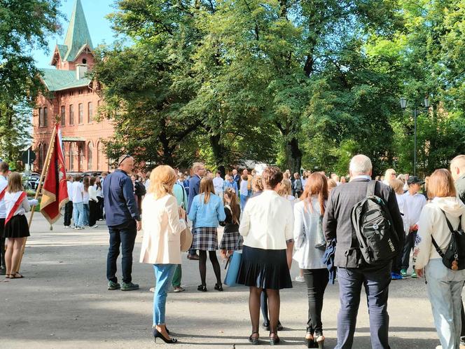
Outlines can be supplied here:
M41 214L34 215L32 236L22 263L25 279L0 282L0 348L153 348L151 336L153 287L151 266L139 264L142 233L134 249L133 279L139 291L106 290L108 233L96 229L74 231L55 224L53 231ZM209 262L207 262L209 263ZM293 278L298 274L292 268ZM222 269L224 277L225 271ZM183 287L169 293L167 324L179 338L176 348L245 348L251 331L244 287L216 292L211 265L209 292L200 283L195 261L183 255ZM364 296L364 294L363 294ZM338 286L328 285L324 300L326 348L334 348ZM389 298L391 348L435 348L439 344L424 280L391 284ZM294 282L281 296L284 340L279 348L304 347L307 295ZM263 338L268 334L261 331ZM157 346L165 345L157 342ZM263 341L262 347L268 346ZM371 348L366 302L362 301L354 348Z

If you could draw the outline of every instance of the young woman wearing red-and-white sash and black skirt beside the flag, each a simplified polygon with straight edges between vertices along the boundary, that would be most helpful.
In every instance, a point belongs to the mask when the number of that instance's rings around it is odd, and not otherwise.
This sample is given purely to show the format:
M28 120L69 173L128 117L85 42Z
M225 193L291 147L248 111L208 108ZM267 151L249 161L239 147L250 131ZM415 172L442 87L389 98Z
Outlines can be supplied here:
M22 177L18 172L8 175L8 186L5 196L5 231L8 239L5 253L6 278L21 279L20 268L21 249L29 234L29 225L25 216L31 210L31 205L37 205L37 200L27 200L27 194L22 188Z

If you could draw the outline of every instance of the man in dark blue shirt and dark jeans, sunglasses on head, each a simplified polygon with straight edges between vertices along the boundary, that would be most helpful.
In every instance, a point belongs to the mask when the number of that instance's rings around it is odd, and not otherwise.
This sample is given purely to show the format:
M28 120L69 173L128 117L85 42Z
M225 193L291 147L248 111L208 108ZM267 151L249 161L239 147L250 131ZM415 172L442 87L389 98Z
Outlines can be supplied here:
M132 250L137 231L141 229L141 217L134 198L134 186L129 175L134 167L130 155L120 156L118 169L108 175L103 184L106 225L110 233L110 247L106 258L106 278L108 289L132 291L139 285L132 283ZM116 260L121 252L123 285L116 278Z

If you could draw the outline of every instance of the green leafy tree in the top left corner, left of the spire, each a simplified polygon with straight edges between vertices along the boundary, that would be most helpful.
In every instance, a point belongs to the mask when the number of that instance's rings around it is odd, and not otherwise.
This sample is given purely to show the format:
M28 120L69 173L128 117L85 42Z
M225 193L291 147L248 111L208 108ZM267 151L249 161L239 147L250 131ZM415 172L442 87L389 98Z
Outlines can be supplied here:
M28 141L30 113L42 84L32 50L60 30L59 0L0 0L0 156L15 163Z

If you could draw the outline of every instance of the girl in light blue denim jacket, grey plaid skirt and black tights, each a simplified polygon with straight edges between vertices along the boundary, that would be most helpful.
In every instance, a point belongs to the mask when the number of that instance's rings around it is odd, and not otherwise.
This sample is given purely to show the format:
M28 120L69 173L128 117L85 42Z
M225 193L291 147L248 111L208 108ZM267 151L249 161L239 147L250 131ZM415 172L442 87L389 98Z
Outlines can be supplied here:
M201 284L198 291L207 292L207 251L209 253L211 265L216 276L214 289L223 291L221 283L221 270L216 249L218 249L218 224L226 219L223 200L215 195L213 180L210 177L203 177L200 181L199 194L194 197L188 217L193 221L193 243L192 249L199 250L199 271Z

